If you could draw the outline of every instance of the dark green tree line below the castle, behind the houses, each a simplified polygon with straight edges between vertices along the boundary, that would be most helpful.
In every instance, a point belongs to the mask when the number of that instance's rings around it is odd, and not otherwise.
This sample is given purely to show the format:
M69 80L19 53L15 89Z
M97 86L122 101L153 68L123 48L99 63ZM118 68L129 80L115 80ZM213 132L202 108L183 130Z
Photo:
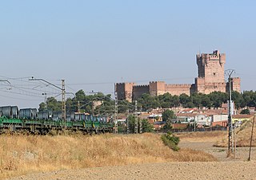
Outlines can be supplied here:
M138 111L150 112L153 108L175 108L182 106L183 108L220 108L222 103L227 103L229 100L226 92L211 92L210 94L194 93L190 96L181 94L180 96L172 96L170 93L165 93L159 96L150 96L143 94L138 101ZM236 108L256 107L256 92L232 92L232 100L234 100ZM99 104L95 105L95 102ZM94 115L113 115L114 100L111 95L104 95L98 92L91 95L86 95L83 90L75 93L74 98L66 100L67 112L88 112ZM80 107L80 108L79 108ZM60 112L62 102L54 97L48 97L46 103L39 104L39 111L50 109L54 112ZM118 100L118 113L134 112L135 104L126 100Z

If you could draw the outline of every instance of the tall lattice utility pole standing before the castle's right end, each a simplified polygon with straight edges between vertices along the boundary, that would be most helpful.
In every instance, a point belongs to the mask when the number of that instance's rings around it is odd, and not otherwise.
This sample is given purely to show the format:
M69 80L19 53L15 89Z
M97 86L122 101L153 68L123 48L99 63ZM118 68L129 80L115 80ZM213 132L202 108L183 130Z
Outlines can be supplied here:
M234 143L233 143L233 125L232 125L232 113L231 113L231 104L232 104L232 90L231 90L231 75L234 72L234 69L227 70L229 76L229 115L228 115L228 127L229 127L229 144L228 144L228 156L230 152L234 151ZM232 147L232 149L231 149Z

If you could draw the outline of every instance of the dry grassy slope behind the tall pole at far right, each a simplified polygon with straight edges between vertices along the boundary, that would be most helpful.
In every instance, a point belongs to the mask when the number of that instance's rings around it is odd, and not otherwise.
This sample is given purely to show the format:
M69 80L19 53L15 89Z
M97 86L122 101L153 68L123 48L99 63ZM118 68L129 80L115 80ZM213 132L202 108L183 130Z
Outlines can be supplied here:
M241 127L236 129L236 144L237 147L249 147L250 146L250 136L251 136L252 121L246 121ZM227 147L228 145L228 135L224 136L222 139L218 140L214 144L216 147ZM252 146L256 146L256 126L254 124L254 135Z

